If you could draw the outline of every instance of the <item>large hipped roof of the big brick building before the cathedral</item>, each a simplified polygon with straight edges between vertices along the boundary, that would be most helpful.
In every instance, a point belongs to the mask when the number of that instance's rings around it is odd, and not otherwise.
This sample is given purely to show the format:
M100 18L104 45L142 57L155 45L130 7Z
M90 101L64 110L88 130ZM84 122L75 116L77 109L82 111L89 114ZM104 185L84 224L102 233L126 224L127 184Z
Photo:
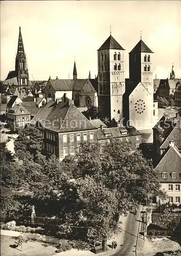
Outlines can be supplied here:
M46 121L48 126L46 127ZM56 122L54 122L56 120ZM49 101L30 121L34 125L40 121L45 128L54 132L94 130L96 127L76 108L74 104Z

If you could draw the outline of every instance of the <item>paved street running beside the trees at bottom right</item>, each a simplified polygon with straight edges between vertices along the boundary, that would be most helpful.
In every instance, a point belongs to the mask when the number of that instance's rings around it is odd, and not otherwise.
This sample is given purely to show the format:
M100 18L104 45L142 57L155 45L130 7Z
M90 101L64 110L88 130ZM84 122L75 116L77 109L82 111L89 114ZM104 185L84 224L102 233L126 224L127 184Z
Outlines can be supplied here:
M124 235L124 242L123 245L120 246L120 250L115 253L116 256L135 256L136 255L136 243L138 234L138 227L139 227L139 217L140 211L142 210L142 206L139 207L137 210L137 214L134 215L132 212L129 212L128 221L126 224L125 230L123 230ZM137 256L137 255L136 255Z

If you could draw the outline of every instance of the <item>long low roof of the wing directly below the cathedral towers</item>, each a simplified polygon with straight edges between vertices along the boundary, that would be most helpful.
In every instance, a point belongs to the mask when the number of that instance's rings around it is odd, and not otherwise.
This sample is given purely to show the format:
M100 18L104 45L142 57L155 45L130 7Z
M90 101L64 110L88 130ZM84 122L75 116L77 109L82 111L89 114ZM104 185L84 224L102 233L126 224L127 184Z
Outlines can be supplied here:
M125 131L126 130L126 131ZM122 134L123 132L123 134ZM127 133L125 133L127 132ZM107 139L105 134L111 134L113 138L122 138L122 137L128 137L128 136L136 136L136 135L142 135L140 132L138 132L135 127L111 127L111 128L105 128L103 131L98 130L97 131L97 139L103 140Z

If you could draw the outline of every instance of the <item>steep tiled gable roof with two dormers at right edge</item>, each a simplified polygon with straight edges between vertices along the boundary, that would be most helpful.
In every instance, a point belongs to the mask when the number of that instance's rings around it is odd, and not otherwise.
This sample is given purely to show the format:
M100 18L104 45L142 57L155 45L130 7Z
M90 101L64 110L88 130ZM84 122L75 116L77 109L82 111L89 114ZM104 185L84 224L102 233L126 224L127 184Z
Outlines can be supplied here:
M174 161L173 161L174 159ZM180 182L181 181L181 154L178 148L170 146L164 152L162 159L155 167L159 172L160 182ZM162 178L162 173L167 173L167 179ZM176 179L172 179L171 173L176 173Z

